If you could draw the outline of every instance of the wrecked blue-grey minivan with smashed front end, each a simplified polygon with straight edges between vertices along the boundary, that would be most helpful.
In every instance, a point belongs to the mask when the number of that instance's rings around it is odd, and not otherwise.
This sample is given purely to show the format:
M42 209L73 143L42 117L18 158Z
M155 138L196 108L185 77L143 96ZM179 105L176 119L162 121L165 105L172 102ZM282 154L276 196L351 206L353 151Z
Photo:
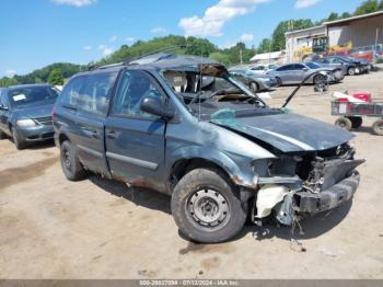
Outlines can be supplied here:
M156 54L81 72L53 120L61 167L172 197L181 231L222 242L246 218L285 226L350 200L352 134L268 107L208 58Z

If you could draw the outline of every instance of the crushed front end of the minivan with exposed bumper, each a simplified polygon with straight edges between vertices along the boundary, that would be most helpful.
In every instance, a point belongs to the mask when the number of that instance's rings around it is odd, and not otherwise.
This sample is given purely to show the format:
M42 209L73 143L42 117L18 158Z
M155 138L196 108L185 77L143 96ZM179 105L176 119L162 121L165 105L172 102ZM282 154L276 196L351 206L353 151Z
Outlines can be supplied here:
M297 218L350 200L360 181L356 168L363 162L355 159L355 149L348 144L324 151L285 153L263 164L255 162L259 190L254 221L259 225L274 215L280 223L291 226Z

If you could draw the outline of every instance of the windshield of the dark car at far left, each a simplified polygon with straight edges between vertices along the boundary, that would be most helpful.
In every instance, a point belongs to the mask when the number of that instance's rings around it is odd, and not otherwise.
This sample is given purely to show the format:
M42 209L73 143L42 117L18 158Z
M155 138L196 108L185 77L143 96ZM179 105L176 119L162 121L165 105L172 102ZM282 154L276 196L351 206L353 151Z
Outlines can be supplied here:
M12 107L54 103L58 92L51 87L20 87L9 91Z

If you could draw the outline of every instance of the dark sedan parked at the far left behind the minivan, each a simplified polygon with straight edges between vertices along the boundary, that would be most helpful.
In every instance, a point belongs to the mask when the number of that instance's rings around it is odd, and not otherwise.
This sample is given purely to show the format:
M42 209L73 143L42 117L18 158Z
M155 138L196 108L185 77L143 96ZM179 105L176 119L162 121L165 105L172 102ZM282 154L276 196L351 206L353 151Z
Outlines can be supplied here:
M48 84L24 84L0 90L0 139L13 139L18 149L54 138L51 111L58 91Z

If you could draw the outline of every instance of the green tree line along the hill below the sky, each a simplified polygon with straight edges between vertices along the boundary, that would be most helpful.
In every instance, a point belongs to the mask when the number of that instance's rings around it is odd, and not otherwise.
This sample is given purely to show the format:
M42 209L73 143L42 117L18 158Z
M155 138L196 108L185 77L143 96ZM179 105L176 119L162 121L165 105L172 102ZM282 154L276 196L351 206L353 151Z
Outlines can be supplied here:
M111 56L105 57L98 61L89 62L88 65L56 62L46 66L42 69L34 70L33 72L24 76L15 74L12 78L3 77L0 79L0 87L39 82L49 82L50 84L55 85L63 84L65 79L70 78L71 76L78 73L81 70L86 70L95 66L103 66L124 61L127 59L132 59L140 55L144 55L164 47L181 45L185 46L186 48L175 49L172 50L172 53L210 57L228 66L240 64L241 60L243 62L247 62L255 54L285 49L286 32L307 28L315 25L320 25L326 21L334 21L349 18L352 15L361 15L376 11L383 11L383 0L365 0L356 9L353 13L345 12L338 14L333 12L326 19L323 19L317 22L313 22L310 19L282 21L274 30L271 37L264 38L263 41L260 41L257 47L246 47L244 43L237 43L236 45L230 48L219 48L206 38L184 37L176 35L155 37L150 41L137 41L131 46L123 45Z

